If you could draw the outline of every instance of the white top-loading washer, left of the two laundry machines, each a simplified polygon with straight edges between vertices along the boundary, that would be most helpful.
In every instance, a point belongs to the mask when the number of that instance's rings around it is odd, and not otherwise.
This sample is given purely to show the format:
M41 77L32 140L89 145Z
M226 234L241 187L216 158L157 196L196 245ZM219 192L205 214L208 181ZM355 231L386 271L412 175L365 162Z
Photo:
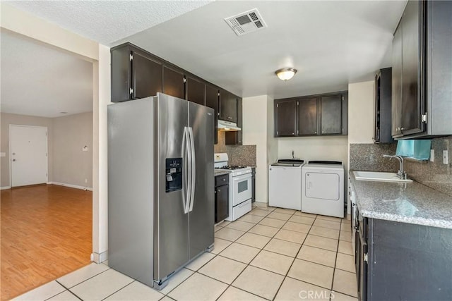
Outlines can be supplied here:
M280 159L268 166L268 205L302 209L302 166L304 160Z

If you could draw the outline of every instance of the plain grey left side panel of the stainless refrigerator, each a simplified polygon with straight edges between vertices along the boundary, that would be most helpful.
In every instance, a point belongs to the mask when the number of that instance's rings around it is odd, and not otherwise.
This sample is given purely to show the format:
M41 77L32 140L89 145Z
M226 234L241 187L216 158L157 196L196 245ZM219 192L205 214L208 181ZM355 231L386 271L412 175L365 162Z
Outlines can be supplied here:
M109 266L153 286L155 99L108 106Z

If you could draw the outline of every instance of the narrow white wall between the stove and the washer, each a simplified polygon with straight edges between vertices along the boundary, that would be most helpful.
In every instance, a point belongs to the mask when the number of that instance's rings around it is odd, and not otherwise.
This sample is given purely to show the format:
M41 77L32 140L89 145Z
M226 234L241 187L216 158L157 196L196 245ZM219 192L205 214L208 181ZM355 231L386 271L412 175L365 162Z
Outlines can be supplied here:
M264 203L268 203L268 164L278 154L273 118L268 116L273 116L272 98L261 95L243 99L243 144L256 145L256 202Z

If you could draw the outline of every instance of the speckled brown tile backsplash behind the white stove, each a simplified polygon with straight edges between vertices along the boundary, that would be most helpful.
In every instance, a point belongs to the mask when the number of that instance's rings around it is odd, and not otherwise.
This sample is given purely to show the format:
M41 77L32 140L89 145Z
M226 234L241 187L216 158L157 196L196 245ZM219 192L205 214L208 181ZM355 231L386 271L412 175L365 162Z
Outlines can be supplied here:
M227 153L230 165L256 166L256 145L225 145L225 132L218 132L214 150Z

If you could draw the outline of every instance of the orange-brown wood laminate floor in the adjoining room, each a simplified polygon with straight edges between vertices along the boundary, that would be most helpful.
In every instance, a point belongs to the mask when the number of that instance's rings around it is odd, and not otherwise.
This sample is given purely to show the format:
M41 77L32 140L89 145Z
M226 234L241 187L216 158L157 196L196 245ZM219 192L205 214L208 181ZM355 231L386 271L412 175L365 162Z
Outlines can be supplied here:
M90 263L93 192L58 185L1 190L1 300Z

